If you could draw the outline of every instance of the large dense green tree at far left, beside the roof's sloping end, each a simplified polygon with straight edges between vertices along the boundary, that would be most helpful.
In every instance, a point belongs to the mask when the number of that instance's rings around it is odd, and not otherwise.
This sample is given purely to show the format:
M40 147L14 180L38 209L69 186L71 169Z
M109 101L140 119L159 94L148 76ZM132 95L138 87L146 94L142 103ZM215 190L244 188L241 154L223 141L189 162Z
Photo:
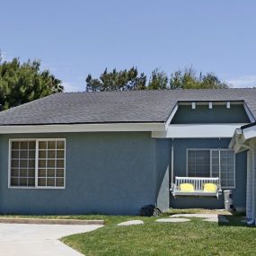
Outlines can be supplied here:
M0 103L4 110L63 90L61 81L49 70L40 71L40 60L21 63L17 57L11 61L0 57Z

